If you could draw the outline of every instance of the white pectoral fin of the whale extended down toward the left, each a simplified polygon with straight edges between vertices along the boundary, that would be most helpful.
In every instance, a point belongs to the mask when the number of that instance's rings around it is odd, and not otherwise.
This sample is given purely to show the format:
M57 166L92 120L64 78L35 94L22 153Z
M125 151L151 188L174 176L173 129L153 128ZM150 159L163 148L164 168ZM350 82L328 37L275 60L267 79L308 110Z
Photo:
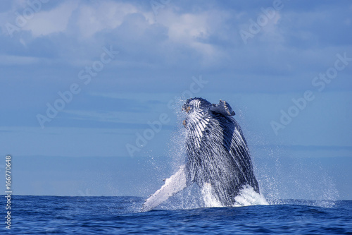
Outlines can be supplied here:
M186 172L185 166L183 165L180 169L173 174L170 178L165 179L165 184L151 195L146 202L143 204L142 212L152 210L154 207L157 207L165 200L168 200L172 195L182 191L186 188Z

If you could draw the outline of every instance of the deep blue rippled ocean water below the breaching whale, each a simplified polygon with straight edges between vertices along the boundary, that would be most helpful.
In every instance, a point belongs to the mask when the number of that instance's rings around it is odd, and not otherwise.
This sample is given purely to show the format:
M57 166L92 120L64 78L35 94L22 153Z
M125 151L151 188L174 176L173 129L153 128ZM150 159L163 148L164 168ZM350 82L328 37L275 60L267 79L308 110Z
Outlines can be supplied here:
M4 195L1 200L5 205ZM0 234L352 234L352 200L139 212L143 198L13 195Z

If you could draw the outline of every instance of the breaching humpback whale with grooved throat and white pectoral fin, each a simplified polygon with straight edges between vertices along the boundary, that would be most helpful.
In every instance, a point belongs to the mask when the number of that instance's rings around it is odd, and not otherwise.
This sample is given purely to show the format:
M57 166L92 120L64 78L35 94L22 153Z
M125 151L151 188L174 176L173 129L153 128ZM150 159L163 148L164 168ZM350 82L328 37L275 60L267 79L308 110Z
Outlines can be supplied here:
M236 203L241 189L251 186L259 193L246 139L234 111L226 101L211 104L202 98L187 100L182 106L187 129L186 164L144 203L142 211L152 210L192 183L210 188L222 206Z

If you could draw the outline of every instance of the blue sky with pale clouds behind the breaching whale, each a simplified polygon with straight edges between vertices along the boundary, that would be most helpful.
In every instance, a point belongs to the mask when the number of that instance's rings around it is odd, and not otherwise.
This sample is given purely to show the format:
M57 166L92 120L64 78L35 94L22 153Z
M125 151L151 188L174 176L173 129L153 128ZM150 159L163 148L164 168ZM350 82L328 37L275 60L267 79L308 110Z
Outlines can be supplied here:
M147 197L203 97L236 112L266 198L352 200L351 1L14 0L0 23L14 194Z

